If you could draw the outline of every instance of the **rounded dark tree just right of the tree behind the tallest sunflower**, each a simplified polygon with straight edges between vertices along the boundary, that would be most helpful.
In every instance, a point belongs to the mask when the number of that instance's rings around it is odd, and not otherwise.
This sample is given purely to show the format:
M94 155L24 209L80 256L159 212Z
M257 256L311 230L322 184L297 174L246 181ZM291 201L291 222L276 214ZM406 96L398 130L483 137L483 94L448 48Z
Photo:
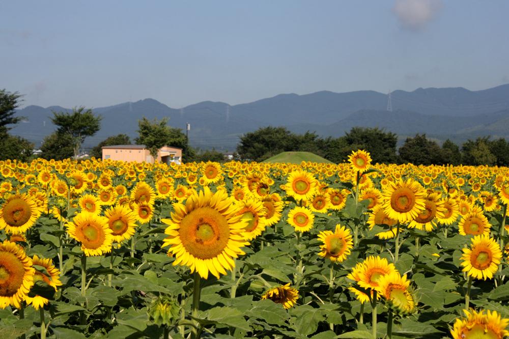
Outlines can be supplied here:
M416 134L400 147L400 158L403 163L414 165L437 164L441 162L441 149L436 142L427 139L426 134Z

